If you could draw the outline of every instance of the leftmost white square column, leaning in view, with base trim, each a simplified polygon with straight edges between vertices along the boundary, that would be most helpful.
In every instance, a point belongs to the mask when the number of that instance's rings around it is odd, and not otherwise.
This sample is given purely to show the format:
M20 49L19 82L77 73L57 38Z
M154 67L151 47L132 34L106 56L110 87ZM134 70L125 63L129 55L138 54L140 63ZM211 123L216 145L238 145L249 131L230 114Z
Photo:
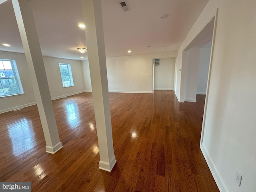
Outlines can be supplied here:
M62 148L62 144L60 142L54 110L52 107L52 100L36 32L33 12L28 0L12 0L12 4L44 131L46 152L54 154Z

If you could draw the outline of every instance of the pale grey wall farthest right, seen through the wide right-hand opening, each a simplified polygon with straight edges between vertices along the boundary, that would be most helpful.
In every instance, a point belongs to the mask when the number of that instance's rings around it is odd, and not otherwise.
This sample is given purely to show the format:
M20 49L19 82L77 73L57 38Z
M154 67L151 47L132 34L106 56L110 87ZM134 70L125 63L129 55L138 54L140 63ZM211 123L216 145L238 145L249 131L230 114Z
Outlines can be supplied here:
M211 47L201 48L196 94L202 94L202 95L206 94L210 55L211 55Z

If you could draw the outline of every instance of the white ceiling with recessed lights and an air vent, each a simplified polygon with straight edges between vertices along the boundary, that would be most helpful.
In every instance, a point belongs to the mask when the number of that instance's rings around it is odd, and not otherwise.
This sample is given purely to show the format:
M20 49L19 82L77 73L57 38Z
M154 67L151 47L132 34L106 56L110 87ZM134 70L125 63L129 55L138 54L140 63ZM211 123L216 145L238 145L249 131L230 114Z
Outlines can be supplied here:
M81 0L30 0L42 54L83 60L87 54ZM178 50L208 0L127 0L123 12L117 0L102 0L106 57ZM161 19L162 14L169 14ZM10 47L2 44L10 44ZM148 48L147 46L150 46ZM166 50L163 50L166 49ZM23 53L11 0L0 4L0 50ZM132 52L128 54L128 50ZM80 58L84 56L84 58Z

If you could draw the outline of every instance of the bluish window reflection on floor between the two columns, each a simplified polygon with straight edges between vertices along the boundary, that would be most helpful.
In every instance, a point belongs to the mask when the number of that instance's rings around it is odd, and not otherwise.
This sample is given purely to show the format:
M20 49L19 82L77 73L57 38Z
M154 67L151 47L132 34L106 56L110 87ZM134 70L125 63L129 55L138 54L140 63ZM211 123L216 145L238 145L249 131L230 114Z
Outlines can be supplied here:
M68 124L70 124L71 127L76 127L78 123L80 123L80 116L77 104L74 102L68 102L66 104L66 114L67 114L67 120Z

